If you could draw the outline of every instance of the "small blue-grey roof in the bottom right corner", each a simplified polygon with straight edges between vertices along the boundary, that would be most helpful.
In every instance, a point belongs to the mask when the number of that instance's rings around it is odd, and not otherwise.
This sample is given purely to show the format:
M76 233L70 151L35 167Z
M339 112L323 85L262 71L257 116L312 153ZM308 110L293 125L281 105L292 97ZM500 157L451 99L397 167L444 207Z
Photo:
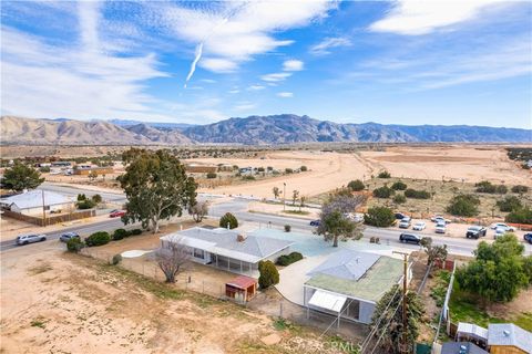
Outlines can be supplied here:
M532 353L532 333L513 323L492 323L488 326L488 345L515 346Z

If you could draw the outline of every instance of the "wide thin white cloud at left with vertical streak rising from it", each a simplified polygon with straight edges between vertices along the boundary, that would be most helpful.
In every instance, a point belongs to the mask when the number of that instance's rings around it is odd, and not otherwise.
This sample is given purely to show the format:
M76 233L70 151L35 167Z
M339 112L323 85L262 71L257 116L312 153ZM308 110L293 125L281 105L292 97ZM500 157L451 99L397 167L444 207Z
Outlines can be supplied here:
M102 50L99 4L79 3L80 45L48 44L2 27L2 113L30 117L156 117L144 82L167 76L155 55Z

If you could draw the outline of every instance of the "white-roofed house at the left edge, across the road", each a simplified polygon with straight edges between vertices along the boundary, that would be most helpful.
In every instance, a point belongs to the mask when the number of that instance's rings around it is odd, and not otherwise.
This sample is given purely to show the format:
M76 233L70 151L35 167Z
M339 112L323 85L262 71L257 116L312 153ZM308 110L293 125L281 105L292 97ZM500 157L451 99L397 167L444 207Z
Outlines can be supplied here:
M48 190L31 190L20 195L0 199L2 209L14 212L39 216L43 208L47 212L69 211L75 208L72 198Z

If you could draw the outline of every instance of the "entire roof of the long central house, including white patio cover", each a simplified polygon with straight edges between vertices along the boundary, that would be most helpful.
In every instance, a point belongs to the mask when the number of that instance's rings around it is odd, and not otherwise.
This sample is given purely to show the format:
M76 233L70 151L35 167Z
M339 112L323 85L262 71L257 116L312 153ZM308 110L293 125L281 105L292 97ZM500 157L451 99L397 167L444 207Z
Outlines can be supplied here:
M163 236L161 240L178 239L180 242L187 246L250 263L256 263L294 244L290 241L253 235L245 237L243 241L238 241L239 233L242 235L242 232L223 228L204 229L195 227Z

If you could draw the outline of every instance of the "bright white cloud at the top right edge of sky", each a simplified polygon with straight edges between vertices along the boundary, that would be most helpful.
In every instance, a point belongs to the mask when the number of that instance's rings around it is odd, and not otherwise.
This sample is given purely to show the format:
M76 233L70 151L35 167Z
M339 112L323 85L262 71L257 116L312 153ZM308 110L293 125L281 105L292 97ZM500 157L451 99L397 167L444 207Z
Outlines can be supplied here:
M484 8L504 4L500 0L419 1L399 0L388 14L370 25L376 32L418 35L478 18Z

